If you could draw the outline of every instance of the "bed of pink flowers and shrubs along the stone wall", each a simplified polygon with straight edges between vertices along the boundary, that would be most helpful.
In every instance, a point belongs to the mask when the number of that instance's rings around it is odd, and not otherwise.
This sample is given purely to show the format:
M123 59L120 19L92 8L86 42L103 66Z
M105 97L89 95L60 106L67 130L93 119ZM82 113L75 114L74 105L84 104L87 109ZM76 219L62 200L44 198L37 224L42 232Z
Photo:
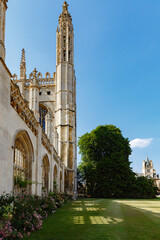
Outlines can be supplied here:
M21 239L40 230L43 220L71 199L71 195L58 193L42 197L0 196L0 240Z

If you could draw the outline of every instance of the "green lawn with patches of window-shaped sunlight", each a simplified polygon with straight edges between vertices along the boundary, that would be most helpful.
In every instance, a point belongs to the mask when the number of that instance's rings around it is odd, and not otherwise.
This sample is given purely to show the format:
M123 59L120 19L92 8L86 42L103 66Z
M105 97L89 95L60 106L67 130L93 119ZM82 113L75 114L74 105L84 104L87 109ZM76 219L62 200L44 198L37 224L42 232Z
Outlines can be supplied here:
M160 200L78 199L28 240L160 239Z

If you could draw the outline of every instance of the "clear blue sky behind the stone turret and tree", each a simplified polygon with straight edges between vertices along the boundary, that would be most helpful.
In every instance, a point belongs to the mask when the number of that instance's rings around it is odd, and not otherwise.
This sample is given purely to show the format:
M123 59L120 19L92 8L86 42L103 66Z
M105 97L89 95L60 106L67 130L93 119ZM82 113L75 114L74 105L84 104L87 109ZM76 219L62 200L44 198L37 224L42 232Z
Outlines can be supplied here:
M144 139L135 140L141 148L133 148L134 171L141 171L148 153L160 173L160 1L68 2L75 31L78 136L114 124L130 140ZM62 3L9 0L6 62L12 73L19 75L22 48L27 74L35 67L43 75L55 71Z

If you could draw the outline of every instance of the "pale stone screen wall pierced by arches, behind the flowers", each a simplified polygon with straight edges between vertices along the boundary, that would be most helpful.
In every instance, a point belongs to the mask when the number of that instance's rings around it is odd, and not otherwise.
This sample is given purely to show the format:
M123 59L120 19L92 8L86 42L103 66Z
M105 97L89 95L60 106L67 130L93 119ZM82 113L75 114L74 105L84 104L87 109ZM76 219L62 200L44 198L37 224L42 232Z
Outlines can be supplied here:
M54 166L58 169L58 190L60 190L60 171L64 176L64 166L60 162L54 147L46 146L42 140L47 136L42 133L38 124L37 134L20 117L10 104L10 73L3 61L0 62L0 194L4 191L9 193L13 190L13 158L15 138L19 132L26 132L33 146L32 161L32 193L41 194L42 190L42 161L48 156L49 189L53 190ZM44 136L45 137L44 137ZM49 140L47 140L49 141ZM61 191L64 191L64 177Z

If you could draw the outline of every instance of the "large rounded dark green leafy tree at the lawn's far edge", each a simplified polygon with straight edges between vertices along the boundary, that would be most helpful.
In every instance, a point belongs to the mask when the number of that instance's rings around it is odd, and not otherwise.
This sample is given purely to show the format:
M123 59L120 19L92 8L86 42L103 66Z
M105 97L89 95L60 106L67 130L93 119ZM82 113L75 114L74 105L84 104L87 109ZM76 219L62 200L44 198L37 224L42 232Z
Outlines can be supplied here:
M79 171L85 179L88 195L134 197L137 182L141 180L136 181L130 167L129 140L123 137L119 128L113 125L99 126L81 136L78 146L82 160Z

